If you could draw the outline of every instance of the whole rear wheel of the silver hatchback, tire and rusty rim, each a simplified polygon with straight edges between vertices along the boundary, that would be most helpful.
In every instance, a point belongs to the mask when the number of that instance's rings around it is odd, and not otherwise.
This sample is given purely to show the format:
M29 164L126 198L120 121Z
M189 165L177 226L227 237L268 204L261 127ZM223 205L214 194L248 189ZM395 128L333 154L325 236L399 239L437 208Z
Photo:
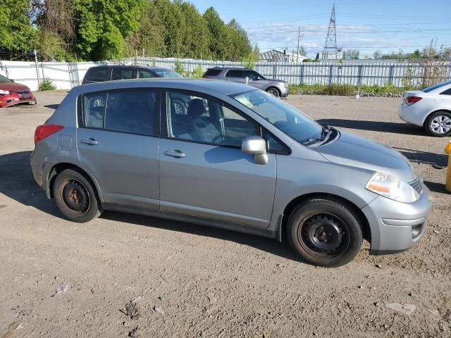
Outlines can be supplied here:
M65 218L77 223L86 223L99 217L99 201L89 180L78 171L63 170L54 181L56 206Z

